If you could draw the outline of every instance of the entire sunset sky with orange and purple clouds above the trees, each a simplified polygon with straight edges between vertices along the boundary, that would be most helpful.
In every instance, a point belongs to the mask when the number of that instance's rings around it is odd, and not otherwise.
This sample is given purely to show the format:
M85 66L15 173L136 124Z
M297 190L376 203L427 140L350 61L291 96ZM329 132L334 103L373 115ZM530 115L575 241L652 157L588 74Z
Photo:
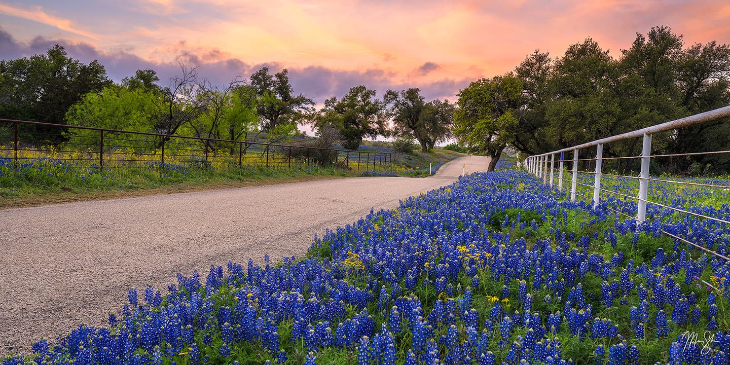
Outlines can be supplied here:
M730 43L730 1L0 0L0 58L60 44L115 81L151 68L166 86L183 62L224 85L269 66L317 103L357 85L455 101L534 50L591 37L618 58L660 25L685 45Z

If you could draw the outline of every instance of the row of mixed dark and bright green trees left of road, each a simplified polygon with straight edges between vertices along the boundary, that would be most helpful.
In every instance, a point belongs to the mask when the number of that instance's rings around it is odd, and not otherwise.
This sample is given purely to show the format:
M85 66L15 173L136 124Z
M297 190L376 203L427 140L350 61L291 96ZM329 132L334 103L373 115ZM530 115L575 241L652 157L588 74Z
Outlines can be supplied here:
M453 104L427 102L418 88L386 91L377 99L376 91L359 85L315 110L315 101L293 91L286 69L270 73L263 67L247 80L237 77L220 86L181 64L169 85L159 81L153 69L140 69L112 82L99 62L82 64L56 45L45 55L0 61L0 118L266 142L282 142L299 133L298 125L310 124L323 140L350 149L367 137L392 136L417 139L425 151L451 137ZM0 123L3 127L0 139L7 143L9 126ZM98 135L46 126L21 129L21 139L36 145L85 145Z

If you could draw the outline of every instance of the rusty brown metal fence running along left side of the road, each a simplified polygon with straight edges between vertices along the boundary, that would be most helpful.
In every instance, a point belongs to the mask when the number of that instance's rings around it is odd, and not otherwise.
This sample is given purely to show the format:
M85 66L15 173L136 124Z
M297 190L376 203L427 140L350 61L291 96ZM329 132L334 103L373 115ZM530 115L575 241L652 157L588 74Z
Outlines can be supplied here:
M30 128L34 130L26 131ZM0 119L0 158L12 159L16 170L41 161L59 161L98 169L334 166L358 172L385 172L392 171L399 152L341 150Z

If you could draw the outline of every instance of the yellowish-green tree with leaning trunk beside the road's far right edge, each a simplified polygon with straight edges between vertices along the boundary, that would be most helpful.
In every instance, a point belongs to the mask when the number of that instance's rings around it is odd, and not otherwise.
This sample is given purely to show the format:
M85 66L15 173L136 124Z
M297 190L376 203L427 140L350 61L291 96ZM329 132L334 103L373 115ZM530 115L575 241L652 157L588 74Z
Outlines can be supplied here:
M458 93L453 134L469 153L491 158L488 171L515 139L522 90L522 82L507 74L477 80Z

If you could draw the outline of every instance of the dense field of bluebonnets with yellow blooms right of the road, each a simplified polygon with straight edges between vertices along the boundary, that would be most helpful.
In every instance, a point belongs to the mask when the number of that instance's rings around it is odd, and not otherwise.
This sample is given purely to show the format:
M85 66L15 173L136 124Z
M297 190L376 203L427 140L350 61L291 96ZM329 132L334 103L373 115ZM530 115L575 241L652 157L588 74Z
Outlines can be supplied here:
M726 191L663 186L651 199L730 219ZM472 174L302 258L130 291L108 327L2 364L729 364L730 264L659 230L727 255L730 227L607 209L634 204L594 210L526 172Z

